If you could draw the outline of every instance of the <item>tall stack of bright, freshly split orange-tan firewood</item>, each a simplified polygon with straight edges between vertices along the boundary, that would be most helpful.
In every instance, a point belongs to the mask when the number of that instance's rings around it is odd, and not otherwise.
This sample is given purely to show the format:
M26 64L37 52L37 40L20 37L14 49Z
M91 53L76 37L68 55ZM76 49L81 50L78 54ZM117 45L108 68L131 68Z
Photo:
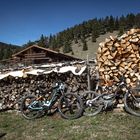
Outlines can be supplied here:
M99 44L97 69L99 77L119 82L124 76L128 86L134 87L140 79L140 29L131 29L120 37L106 39Z

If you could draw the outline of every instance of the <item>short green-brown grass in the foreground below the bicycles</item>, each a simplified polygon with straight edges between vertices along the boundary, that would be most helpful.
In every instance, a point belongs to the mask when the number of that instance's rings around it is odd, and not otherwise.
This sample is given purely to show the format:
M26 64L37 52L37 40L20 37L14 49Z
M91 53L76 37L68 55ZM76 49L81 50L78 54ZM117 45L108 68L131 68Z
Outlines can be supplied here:
M138 140L140 118L127 113L65 120L58 114L26 120L20 113L0 113L1 140Z

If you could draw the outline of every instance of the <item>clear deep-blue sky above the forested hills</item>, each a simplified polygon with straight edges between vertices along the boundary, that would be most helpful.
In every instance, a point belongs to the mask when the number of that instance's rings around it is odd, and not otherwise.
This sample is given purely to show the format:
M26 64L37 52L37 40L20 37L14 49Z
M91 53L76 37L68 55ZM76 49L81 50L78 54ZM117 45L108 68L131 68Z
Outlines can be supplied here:
M140 13L140 0L0 0L0 42L23 45L93 18Z

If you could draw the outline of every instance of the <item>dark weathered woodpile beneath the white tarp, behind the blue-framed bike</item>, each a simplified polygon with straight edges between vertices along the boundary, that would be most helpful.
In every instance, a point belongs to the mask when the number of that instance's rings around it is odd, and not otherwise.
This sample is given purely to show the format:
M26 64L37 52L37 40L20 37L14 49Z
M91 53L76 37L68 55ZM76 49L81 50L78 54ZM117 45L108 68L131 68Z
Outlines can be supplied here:
M38 87L51 89L52 85L61 80L65 82L68 92L80 94L87 89L86 73L76 76L71 72L67 73L51 73L47 75L28 75L24 77L8 76L0 81L0 111L8 109L19 109L21 99L28 95L38 95ZM49 96L47 92L45 96Z

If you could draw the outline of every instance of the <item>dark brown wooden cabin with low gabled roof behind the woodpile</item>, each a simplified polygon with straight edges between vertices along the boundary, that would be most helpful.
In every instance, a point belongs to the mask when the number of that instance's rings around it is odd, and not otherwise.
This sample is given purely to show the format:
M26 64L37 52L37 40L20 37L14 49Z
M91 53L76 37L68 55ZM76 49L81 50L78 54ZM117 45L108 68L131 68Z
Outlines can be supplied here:
M13 54L12 60L23 64L41 64L50 62L75 61L81 59L40 47L38 45L32 45L16 54Z

